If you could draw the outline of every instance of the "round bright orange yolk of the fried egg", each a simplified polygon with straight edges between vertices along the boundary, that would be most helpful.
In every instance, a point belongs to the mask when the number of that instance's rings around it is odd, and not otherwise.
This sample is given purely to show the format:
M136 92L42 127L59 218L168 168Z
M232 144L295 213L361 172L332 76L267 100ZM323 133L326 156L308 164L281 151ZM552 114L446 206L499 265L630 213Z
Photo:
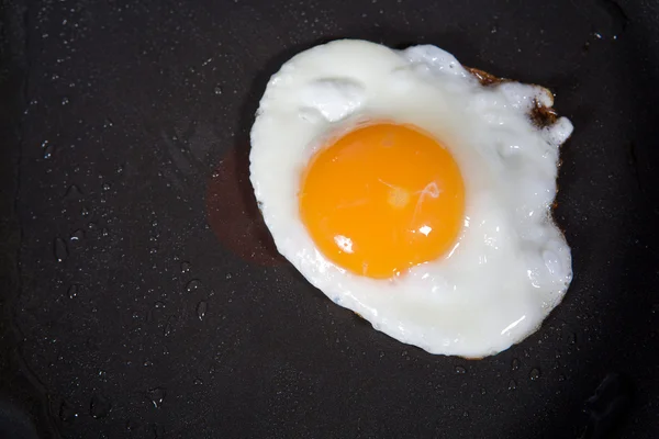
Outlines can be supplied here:
M333 139L312 157L299 203L328 260L383 279L450 250L462 226L465 187L436 139L410 125L378 123Z

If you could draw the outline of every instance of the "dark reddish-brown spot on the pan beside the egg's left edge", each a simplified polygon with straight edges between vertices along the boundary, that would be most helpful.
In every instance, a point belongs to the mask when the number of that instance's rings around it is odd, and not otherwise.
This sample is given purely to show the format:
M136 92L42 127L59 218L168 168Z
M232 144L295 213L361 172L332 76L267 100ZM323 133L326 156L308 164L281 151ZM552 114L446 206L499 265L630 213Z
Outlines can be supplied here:
M231 149L211 173L206 217L222 245L239 258L268 267L283 263L254 198L248 148Z

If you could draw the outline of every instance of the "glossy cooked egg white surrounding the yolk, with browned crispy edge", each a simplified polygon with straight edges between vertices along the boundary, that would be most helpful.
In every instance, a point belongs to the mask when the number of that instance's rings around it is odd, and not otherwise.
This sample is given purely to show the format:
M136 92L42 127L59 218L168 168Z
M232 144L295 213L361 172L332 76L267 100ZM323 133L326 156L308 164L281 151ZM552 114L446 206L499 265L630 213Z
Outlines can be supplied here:
M550 216L561 117L538 128L543 88L483 87L434 46L393 50L342 40L305 50L272 76L252 128L250 179L278 250L335 303L432 353L479 358L534 333L571 279L570 248ZM393 279L328 261L301 221L301 173L323 139L369 121L412 124L456 159L465 224L453 250Z

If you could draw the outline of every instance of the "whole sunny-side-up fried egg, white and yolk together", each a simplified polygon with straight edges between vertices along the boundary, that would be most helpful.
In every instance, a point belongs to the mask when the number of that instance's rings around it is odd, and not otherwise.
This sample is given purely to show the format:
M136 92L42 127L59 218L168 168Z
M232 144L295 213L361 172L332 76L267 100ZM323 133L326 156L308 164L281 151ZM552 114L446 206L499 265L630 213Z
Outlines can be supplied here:
M278 250L389 336L481 358L534 333L572 278L551 219L565 117L434 46L342 40L272 76L250 179ZM551 113L552 114L552 113Z

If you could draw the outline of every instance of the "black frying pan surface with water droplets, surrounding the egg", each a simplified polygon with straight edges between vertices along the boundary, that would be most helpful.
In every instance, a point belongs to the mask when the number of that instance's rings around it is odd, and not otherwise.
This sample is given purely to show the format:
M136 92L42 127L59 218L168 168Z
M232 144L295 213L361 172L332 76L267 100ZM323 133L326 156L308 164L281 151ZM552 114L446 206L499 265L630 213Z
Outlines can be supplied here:
M4 3L7 437L659 437L656 1ZM405 346L273 250L254 112L338 37L436 44L573 122L555 217L574 280L520 345Z

